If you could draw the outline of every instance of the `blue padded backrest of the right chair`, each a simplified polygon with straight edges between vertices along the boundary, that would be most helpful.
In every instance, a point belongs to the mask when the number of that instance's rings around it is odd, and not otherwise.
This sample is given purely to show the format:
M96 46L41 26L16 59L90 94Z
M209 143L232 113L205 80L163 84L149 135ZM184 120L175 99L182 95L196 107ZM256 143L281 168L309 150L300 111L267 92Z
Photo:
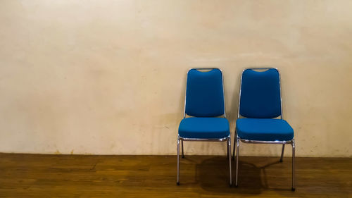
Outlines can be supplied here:
M243 71L239 115L246 118L282 116L280 77L276 68L251 68Z

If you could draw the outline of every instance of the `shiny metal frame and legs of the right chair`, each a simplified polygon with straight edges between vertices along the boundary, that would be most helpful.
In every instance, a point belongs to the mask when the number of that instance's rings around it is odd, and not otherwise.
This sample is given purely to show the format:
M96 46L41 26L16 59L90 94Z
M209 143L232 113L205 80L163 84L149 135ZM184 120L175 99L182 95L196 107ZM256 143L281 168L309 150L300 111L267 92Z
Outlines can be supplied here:
M279 70L277 68L246 68L242 71L241 73L241 85L239 87L239 108L240 108L240 104L241 104L241 87L242 87L242 76L245 70L268 70L268 69L275 69L277 70L277 73L279 73ZM281 105L281 116L280 119L283 119L283 113L282 113L282 93L281 93L281 77L280 77L280 73L279 73L279 91L280 91L280 105ZM237 119L239 119L239 108L237 111ZM291 144L292 146L292 188L291 190L296 190L296 185L295 185L295 168L294 168L294 158L295 158L295 142L294 142L294 138L292 140L288 140L288 141L258 141L258 140L245 140L245 139L241 139L238 135L237 135L237 130L236 127L234 128L234 144L236 144L236 182L235 185L236 187L238 186L238 171L239 171L239 141L241 140L241 142L244 143L251 143L251 144L282 144L282 151L281 151L281 157L280 157L280 162L282 162L283 160L283 156L284 156L284 146L285 144ZM234 154L235 154L235 147L234 147L234 151L233 151L233 156L232 159L234 159Z

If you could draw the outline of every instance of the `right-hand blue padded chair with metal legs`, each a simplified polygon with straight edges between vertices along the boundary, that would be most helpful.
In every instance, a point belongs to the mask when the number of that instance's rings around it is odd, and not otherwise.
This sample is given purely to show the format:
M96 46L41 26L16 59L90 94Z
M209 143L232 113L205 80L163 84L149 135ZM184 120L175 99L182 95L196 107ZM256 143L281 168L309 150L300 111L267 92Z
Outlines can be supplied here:
M284 145L291 144L292 190L295 190L294 130L282 116L280 75L276 68L249 68L242 72L234 138L234 144L237 147L236 186L238 186L239 141L241 140L244 143L282 144L280 162L284 155Z

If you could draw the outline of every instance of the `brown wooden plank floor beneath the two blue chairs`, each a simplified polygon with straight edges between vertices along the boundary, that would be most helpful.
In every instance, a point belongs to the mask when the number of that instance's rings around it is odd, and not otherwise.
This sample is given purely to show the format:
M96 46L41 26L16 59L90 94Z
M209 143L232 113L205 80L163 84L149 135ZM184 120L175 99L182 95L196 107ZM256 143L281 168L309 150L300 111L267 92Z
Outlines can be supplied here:
M296 192L278 160L241 157L230 187L225 156L186 156L177 186L176 156L0 154L0 197L352 197L352 159L296 158Z

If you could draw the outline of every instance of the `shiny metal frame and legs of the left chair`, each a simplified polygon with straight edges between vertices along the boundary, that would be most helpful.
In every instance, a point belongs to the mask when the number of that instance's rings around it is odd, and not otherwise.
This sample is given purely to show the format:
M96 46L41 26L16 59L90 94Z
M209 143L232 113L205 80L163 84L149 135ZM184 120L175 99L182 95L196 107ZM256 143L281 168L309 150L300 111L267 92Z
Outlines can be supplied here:
M213 69L218 69L219 68L192 68L195 70L213 70ZM187 72L187 78L188 78L188 73L191 69L188 70ZM224 118L226 118L226 108L225 108L225 87L224 87L224 75L222 75L222 70L221 72L221 77L222 77L222 92L224 96ZM187 80L186 80L187 82ZM186 90L184 94L184 113L183 113L183 118L186 118L186 97L187 97L187 85L186 85ZM184 141L193 141L193 142L225 142L227 141L227 158L229 159L229 165L230 165L230 186L232 185L232 169L231 169L231 133L228 137L223 137L219 139L206 139L206 138L185 138L185 137L180 137L180 135L177 135L177 185L180 185L180 141L182 144L182 158L184 158L184 149L183 149L183 142Z

